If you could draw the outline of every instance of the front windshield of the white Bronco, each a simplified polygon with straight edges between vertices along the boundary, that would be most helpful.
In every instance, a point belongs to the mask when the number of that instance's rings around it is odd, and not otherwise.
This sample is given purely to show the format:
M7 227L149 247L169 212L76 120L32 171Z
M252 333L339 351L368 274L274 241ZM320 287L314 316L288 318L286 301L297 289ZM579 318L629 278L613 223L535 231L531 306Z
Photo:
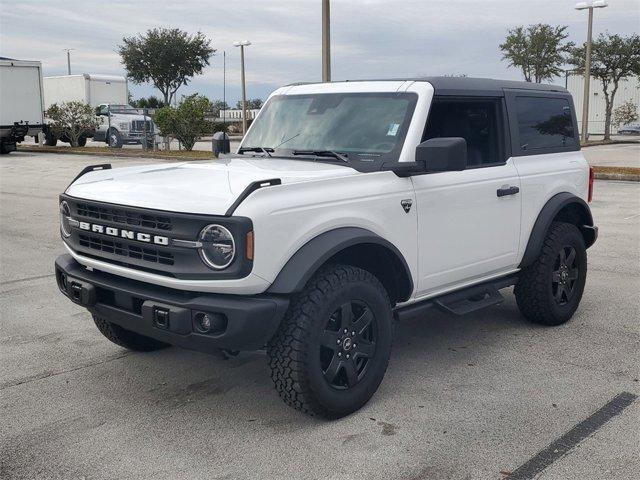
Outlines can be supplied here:
M278 95L263 107L242 148L284 156L332 151L350 162L397 160L416 101L414 93Z

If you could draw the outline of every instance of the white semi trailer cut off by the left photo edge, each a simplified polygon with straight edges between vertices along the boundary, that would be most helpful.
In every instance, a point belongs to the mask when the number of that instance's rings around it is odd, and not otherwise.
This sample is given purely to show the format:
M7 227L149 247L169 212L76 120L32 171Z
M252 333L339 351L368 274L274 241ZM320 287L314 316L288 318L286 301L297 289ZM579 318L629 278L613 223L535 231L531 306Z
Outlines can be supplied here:
M0 57L0 153L44 127L40 62Z

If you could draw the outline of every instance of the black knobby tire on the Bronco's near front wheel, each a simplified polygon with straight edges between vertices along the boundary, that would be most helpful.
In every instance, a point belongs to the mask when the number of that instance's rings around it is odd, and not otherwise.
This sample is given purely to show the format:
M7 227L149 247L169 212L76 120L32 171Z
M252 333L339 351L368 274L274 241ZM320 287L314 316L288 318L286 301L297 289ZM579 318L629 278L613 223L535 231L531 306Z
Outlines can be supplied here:
M375 331L374 349L367 359L371 363L356 367L357 380L353 386L337 389L325 378L329 367L323 371L321 351L326 353L327 347L322 344L320 336L328 333L327 322L335 321L332 319L336 312L347 303L352 305L351 302L361 304L364 311L368 309L372 314L369 317L373 316L370 324L374 326L368 331ZM345 314L339 315L343 318ZM353 325L358 321L356 317L357 312L351 317ZM341 322L343 320L338 321L339 331L332 334L342 334L344 324L341 325ZM357 326L354 329L358 330ZM305 289L293 298L282 324L269 342L267 353L271 378L282 400L291 407L324 418L343 417L361 408L378 389L389 363L392 337L391 305L380 281L370 272L349 265L323 267L309 280ZM355 342L355 339L360 341L363 337L356 332L353 339ZM364 340L362 343L357 347L358 350L364 350L363 347L367 346ZM368 347L371 347L371 343ZM335 351L331 355L337 355L336 352L342 348L343 345L334 346ZM356 358L361 362L364 351L355 352L354 347L351 362L355 362ZM341 358L346 363L345 356ZM331 362L333 360L335 357ZM338 371L340 373L336 378L341 374L347 378L347 367L341 367Z

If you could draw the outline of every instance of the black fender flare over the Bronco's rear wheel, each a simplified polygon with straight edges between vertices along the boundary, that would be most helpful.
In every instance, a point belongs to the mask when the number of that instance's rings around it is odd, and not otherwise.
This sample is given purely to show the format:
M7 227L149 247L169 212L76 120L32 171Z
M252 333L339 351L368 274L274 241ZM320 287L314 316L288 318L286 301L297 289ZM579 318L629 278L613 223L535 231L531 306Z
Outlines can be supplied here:
M544 242L547 230L549 230L551 226L551 222L553 222L562 209L568 206L572 206L576 212L577 217L575 217L572 223L575 223L582 232L586 247L589 248L593 245L598 236L598 228L593 225L593 216L591 215L591 209L587 202L569 192L558 193L547 201L538 214L538 218L533 224L533 229L529 235L527 248L520 262L520 268L535 262L538 255L540 255L542 243Z

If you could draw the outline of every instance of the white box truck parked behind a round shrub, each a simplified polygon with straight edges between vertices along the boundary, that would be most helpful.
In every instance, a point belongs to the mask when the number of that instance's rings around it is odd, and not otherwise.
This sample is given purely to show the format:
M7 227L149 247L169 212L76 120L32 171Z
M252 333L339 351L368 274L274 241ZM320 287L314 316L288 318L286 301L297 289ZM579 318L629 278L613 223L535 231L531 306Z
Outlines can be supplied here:
M154 124L151 117L141 115L138 110L128 105L129 89L125 77L114 75L64 75L44 77L45 107L61 105L65 102L80 101L96 109L100 120L98 129L90 132L94 141L108 143L120 148L123 144L140 144L145 139L151 143L154 135ZM53 132L46 131L47 145L53 146L58 140ZM86 143L81 138L79 145Z

